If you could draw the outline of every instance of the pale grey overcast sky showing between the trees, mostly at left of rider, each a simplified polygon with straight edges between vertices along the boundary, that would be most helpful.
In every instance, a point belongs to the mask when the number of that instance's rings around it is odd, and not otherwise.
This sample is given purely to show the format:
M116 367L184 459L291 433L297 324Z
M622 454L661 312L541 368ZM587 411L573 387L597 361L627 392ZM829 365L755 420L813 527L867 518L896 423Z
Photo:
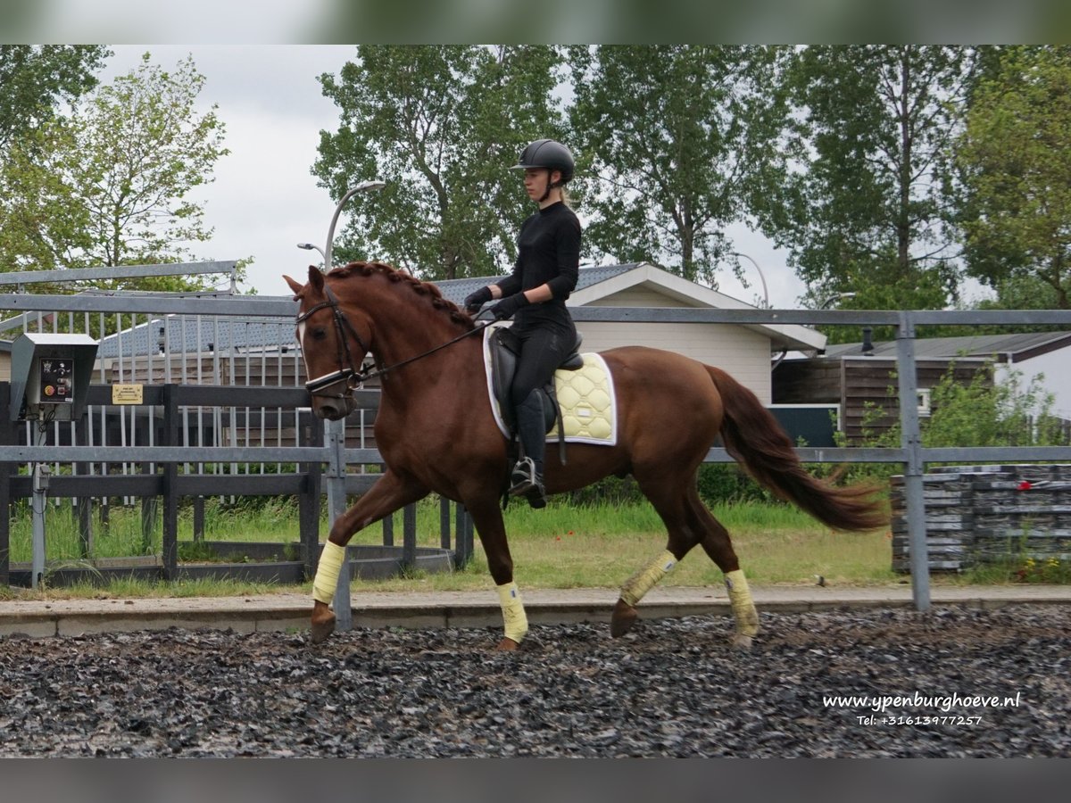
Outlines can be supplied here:
M317 76L337 74L355 58L357 48L121 45L111 49L115 56L102 75L105 81L136 67L145 51L165 69L193 56L206 77L201 105L203 109L218 105L217 113L227 126L225 145L231 151L216 164L215 182L199 196L206 200L208 225L215 232L209 243L196 246L197 253L213 259L253 257L246 285L261 296L286 294L281 276L299 277L310 261L318 261L315 252L300 251L296 244L313 242L323 247L335 209L311 173L320 131L334 131L338 124L338 109L322 95ZM389 176L380 178L390 180ZM784 255L742 226L730 233L737 249L754 260L741 260L751 287L742 287L726 269L719 277L719 289L754 303L763 297L760 278L765 277L772 306L797 307L804 287L785 268Z

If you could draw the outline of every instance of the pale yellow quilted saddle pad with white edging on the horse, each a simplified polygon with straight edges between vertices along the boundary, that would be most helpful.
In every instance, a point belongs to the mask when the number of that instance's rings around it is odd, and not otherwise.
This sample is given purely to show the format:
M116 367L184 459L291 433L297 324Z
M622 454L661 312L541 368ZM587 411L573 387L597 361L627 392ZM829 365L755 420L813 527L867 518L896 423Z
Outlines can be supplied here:
M567 443L594 443L613 446L617 443L617 397L614 394L614 379L606 361L600 354L585 353L584 367L577 370L557 370L554 374L555 392L561 406L561 420L565 428ZM483 343L484 369L487 376L487 395L495 423L506 438L510 433L502 423L502 415L495 398L491 378L491 347L487 333ZM558 440L555 424L546 439Z

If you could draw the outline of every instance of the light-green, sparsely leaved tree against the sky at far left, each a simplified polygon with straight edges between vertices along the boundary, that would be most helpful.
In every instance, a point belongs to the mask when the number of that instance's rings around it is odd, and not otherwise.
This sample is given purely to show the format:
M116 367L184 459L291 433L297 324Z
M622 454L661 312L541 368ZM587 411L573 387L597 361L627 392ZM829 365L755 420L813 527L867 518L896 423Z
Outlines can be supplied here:
M0 170L0 254L12 270L152 264L191 258L211 229L191 199L212 181L224 125L196 108L203 86L187 58L149 61L13 140ZM116 287L187 289L200 279L131 279ZM100 283L94 286L100 287Z

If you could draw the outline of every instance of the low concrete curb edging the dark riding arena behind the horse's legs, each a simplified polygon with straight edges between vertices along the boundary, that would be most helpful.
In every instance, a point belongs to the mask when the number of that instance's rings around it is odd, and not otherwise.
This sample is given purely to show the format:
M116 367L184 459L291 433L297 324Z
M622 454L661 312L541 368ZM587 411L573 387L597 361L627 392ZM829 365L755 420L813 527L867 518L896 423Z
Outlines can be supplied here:
M522 591L533 624L608 622L616 589L532 589ZM881 588L758 587L752 589L760 613L803 613L841 608L910 608L906 586ZM1071 605L1071 587L990 586L934 588L934 606L998 608L1005 605ZM77 636L180 627L239 633L305 631L311 597L266 594L245 597L56 600L0 602L0 637ZM639 606L645 620L685 616L730 616L723 589L654 589ZM500 627L494 591L361 592L352 599L357 627Z

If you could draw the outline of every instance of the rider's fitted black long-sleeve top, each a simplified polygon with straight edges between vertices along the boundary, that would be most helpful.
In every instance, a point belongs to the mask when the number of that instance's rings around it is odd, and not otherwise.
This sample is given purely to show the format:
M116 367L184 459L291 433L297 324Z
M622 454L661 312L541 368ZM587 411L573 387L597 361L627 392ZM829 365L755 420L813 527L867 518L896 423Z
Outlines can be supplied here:
M517 261L513 273L498 283L502 297L549 285L554 297L542 304L528 304L514 316L514 328L544 323L573 328L565 299L576 288L580 268L580 222L560 201L531 215L517 234Z

